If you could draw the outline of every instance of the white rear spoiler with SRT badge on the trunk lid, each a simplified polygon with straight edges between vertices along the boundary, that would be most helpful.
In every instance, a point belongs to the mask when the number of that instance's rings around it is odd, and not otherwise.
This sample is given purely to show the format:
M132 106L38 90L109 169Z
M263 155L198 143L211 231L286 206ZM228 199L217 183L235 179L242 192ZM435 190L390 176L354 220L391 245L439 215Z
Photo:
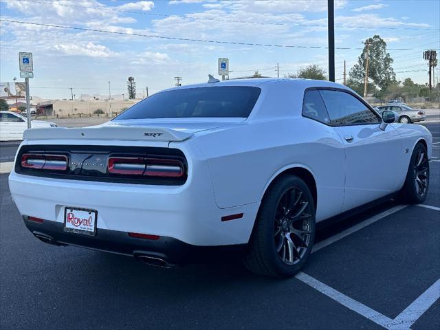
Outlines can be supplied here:
M27 129L23 140L131 140L131 141L184 141L193 134L162 127L95 126L47 127Z

